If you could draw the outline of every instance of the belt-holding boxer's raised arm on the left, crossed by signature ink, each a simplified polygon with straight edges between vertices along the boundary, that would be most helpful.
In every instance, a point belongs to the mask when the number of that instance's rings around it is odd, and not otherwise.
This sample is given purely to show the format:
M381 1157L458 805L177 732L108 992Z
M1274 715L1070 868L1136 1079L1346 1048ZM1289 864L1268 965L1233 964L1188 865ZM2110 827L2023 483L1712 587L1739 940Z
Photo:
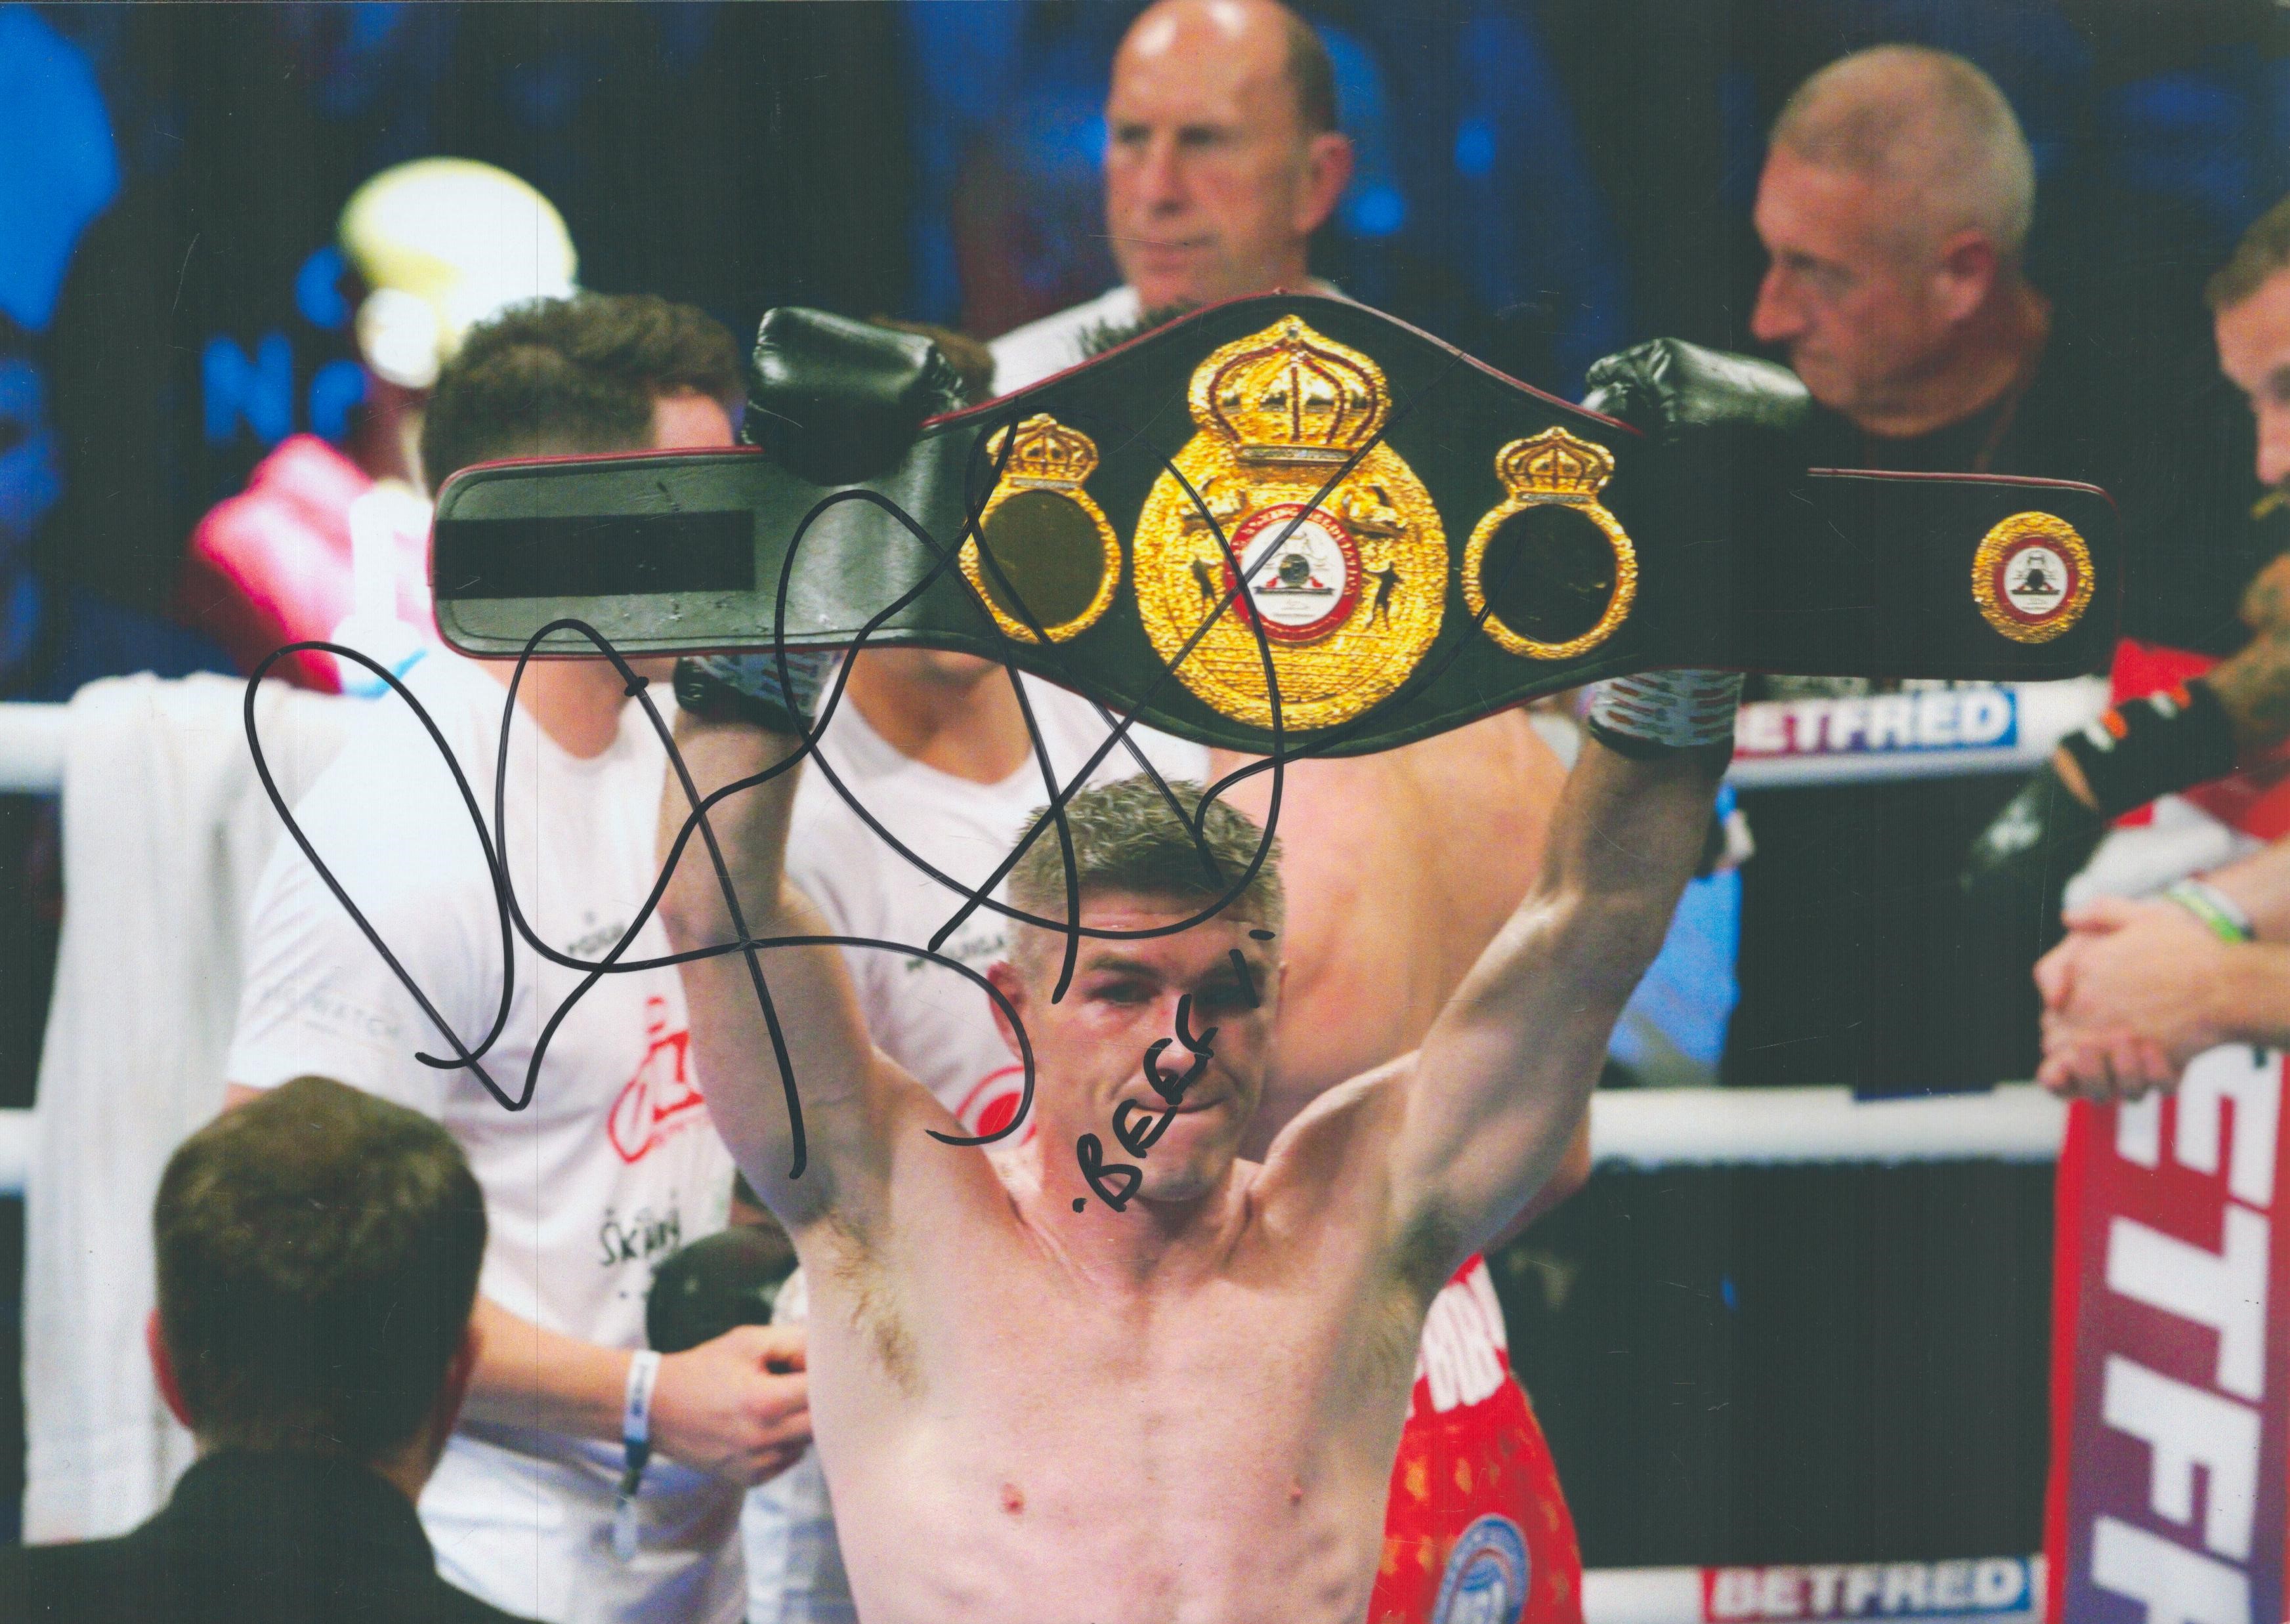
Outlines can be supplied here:
M818 655L811 657L818 662ZM676 669L676 747L698 793L751 779L788 758L811 712L808 689L776 689L769 655L685 660ZM799 676L815 678L815 664ZM804 687L799 680L797 687ZM827 923L785 875L788 818L802 767L781 772L717 802L708 822L740 900L749 939L818 937ZM660 854L666 861L689 820L689 802L669 774L660 806ZM731 900L694 836L669 877L660 916L678 953L740 941ZM806 1166L792 1177L795 1122L788 1111L779 1047L747 953L717 953L680 967L692 1015L694 1061L708 1090L708 1113L740 1170L788 1230L802 1230L836 1207L863 1219L889 1177L884 1097L895 1088L889 1065L868 1042L843 953L834 946L758 951L779 1038L804 1115Z

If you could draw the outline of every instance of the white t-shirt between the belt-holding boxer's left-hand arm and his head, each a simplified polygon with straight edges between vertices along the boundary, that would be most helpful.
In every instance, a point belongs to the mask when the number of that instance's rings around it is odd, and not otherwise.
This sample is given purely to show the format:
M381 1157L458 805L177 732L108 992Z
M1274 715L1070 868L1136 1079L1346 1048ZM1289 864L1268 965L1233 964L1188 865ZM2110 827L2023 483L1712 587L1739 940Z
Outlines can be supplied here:
M1106 742L1111 724L1079 694L1030 676L1024 683L1051 772L1063 786ZM1127 738L1168 781L1200 783L1209 772L1209 751L1200 744L1145 726L1129 728ZM1001 783L971 783L925 767L884 742L847 696L820 740L820 756L902 845L964 886L985 884L1026 829L1028 815L1047 806L1051 795L1035 758ZM1115 744L1090 783L1136 774L1136 756ZM1053 841L1056 834L1047 831L1042 838ZM884 845L818 763L804 767L795 793L788 875L820 905L831 930L845 937L927 946L962 907L962 896ZM1005 886L996 896L1010 900ZM985 976L1008 944L1010 921L978 907L939 953ZM911 951L845 948L845 960L868 1033L884 1054L930 1088L964 1129L980 1134L1010 1120L1024 1072L1001 1040L978 983ZM1008 1143L1024 1143L1026 1134L1030 1125Z

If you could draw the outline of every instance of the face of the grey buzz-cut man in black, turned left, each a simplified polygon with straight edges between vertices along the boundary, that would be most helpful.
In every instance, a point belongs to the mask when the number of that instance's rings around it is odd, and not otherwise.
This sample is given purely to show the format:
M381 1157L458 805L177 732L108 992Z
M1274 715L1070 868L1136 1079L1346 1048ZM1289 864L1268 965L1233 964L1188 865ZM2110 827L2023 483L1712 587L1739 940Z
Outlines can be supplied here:
M1949 339L1935 266L1898 222L1898 197L1871 176L1766 158L1756 234L1770 263L1750 332L1788 350L1814 399L1846 417L1882 412Z

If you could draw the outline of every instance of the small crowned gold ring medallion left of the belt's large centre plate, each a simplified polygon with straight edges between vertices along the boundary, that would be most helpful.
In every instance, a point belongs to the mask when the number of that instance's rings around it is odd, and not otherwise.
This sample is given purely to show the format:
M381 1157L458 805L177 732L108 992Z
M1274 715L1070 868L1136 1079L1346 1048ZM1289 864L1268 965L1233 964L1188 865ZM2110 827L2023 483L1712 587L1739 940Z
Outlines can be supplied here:
M985 449L1001 460L998 431ZM1042 634L1063 644L1097 625L1122 580L1122 543L1081 481L1097 467L1097 442L1047 412L1017 426L1003 476L962 541L962 575L994 623L1021 644ZM980 547L980 543L985 543Z

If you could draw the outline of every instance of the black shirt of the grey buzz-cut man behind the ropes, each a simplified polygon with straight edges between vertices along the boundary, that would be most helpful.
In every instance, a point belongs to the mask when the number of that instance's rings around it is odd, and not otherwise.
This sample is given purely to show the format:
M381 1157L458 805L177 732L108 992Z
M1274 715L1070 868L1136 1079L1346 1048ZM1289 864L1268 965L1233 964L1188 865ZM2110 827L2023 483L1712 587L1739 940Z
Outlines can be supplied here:
M2210 355L2125 362L2134 346L2059 325L2034 371L1969 417L1880 440L1818 412L1827 467L1992 472L2102 486L2123 520L2123 632L2226 655L2235 605L2281 547L2251 520L2249 408ZM1866 685L1855 685L1864 689ZM1752 689L1752 699L1756 689ZM2029 971L2056 921L1974 916L1956 875L2020 774L1743 797L1740 1003L1729 1083L1921 1093L2024 1079L2038 1058Z

